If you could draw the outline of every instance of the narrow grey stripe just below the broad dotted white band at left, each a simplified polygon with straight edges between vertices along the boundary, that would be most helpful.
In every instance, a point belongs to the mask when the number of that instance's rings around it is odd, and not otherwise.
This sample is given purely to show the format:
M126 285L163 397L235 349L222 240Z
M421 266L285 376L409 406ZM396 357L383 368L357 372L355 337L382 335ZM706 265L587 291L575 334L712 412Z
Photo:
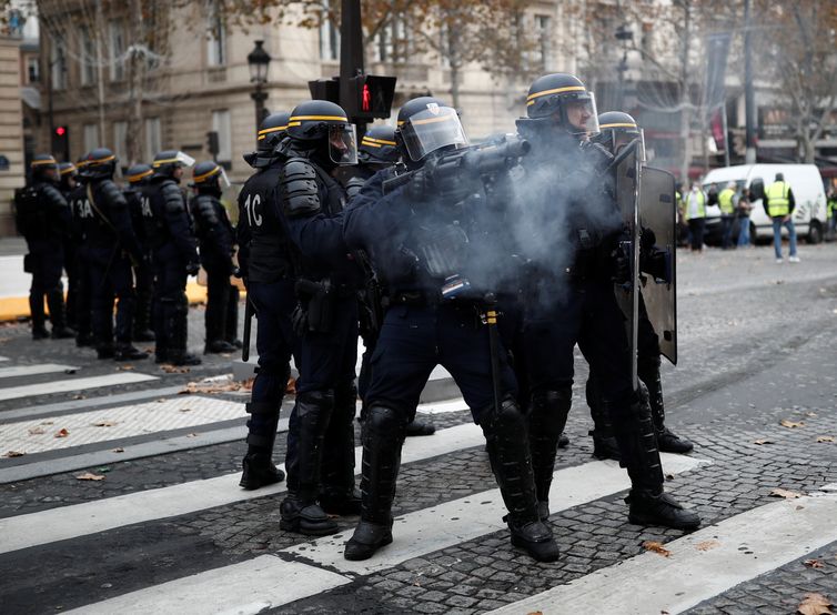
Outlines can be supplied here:
M276 431L279 433L288 431L288 419L281 419L279 421ZM195 430L194 433L189 435L163 437L161 440L153 440L151 442L142 442L139 444L120 444L120 447L123 450L121 453L117 453L114 450L109 448L107 451L94 451L92 453L81 453L67 457L33 461L30 463L24 462L20 465L0 470L0 484L28 481L39 476L51 476L53 474L62 474L74 470L152 457L179 451L189 451L191 448L212 446L214 444L224 444L236 441L243 442L246 434L248 430L243 424L224 430L206 431L204 427ZM21 457L16 457L14 461L20 460Z

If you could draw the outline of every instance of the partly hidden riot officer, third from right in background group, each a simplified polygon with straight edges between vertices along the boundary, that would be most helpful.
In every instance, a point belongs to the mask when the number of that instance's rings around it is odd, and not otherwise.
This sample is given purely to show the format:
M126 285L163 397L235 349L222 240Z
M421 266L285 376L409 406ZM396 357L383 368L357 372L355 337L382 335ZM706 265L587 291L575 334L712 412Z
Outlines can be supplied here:
M145 221L151 218L151 206L148 198L143 198L142 194L142 188L148 185L153 173L148 164L134 164L125 173L128 185L123 190L128 209L131 212L131 224L142 250L142 260L133 270L137 279L133 339L139 342L154 341L154 332L151 330L151 298L154 292L154 272L151 266L152 242L151 236L147 233L147 228L150 224Z

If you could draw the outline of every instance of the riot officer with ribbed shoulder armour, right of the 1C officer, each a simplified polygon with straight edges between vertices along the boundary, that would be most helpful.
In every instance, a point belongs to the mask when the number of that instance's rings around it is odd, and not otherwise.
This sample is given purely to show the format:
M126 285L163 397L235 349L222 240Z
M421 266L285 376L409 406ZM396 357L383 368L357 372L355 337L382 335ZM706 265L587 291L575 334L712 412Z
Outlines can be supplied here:
M343 186L332 173L356 162L354 125L327 101L299 104L279 145L283 215L299 249L300 335L296 404L288 433L288 497L280 527L333 534L326 513L356 514L354 488L354 385L357 298L363 273L343 242Z

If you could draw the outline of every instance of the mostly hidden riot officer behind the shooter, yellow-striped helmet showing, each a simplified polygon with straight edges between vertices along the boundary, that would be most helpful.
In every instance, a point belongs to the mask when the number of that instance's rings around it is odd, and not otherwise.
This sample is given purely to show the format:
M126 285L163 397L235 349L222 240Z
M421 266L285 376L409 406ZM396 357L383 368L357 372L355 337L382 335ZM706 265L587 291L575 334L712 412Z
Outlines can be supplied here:
M374 125L366 131L361 139L357 148L357 165L351 167L352 177L345 182L346 195L353 199L363 184L376 172L387 169L399 162L401 153L395 142L395 129L389 125ZM364 263L369 256L365 252L359 252ZM381 280L372 268L371 263L364 266L365 284L360 296L360 334L363 339L363 357L361 360L361 373L357 374L357 394L361 397L361 416L360 421L365 420L367 406L364 402L366 390L371 379L370 359L375 352L375 343L381 332L381 322L383 320L383 300L385 289ZM423 421L415 415L407 423L406 435L421 436L433 435L436 429L432 423Z

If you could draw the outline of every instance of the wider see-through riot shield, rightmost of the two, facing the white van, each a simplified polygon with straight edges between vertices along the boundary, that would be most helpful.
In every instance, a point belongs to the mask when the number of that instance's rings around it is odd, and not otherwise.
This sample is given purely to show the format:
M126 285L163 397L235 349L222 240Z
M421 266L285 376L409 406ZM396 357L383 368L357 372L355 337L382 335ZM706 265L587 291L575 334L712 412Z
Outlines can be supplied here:
M653 232L655 266L644 268L639 284L648 321L659 337L663 356L677 364L677 294L675 249L677 245L677 203L674 175L659 169L643 168L639 191L639 224ZM648 248L643 242L643 248ZM643 254L644 260L649 254Z

